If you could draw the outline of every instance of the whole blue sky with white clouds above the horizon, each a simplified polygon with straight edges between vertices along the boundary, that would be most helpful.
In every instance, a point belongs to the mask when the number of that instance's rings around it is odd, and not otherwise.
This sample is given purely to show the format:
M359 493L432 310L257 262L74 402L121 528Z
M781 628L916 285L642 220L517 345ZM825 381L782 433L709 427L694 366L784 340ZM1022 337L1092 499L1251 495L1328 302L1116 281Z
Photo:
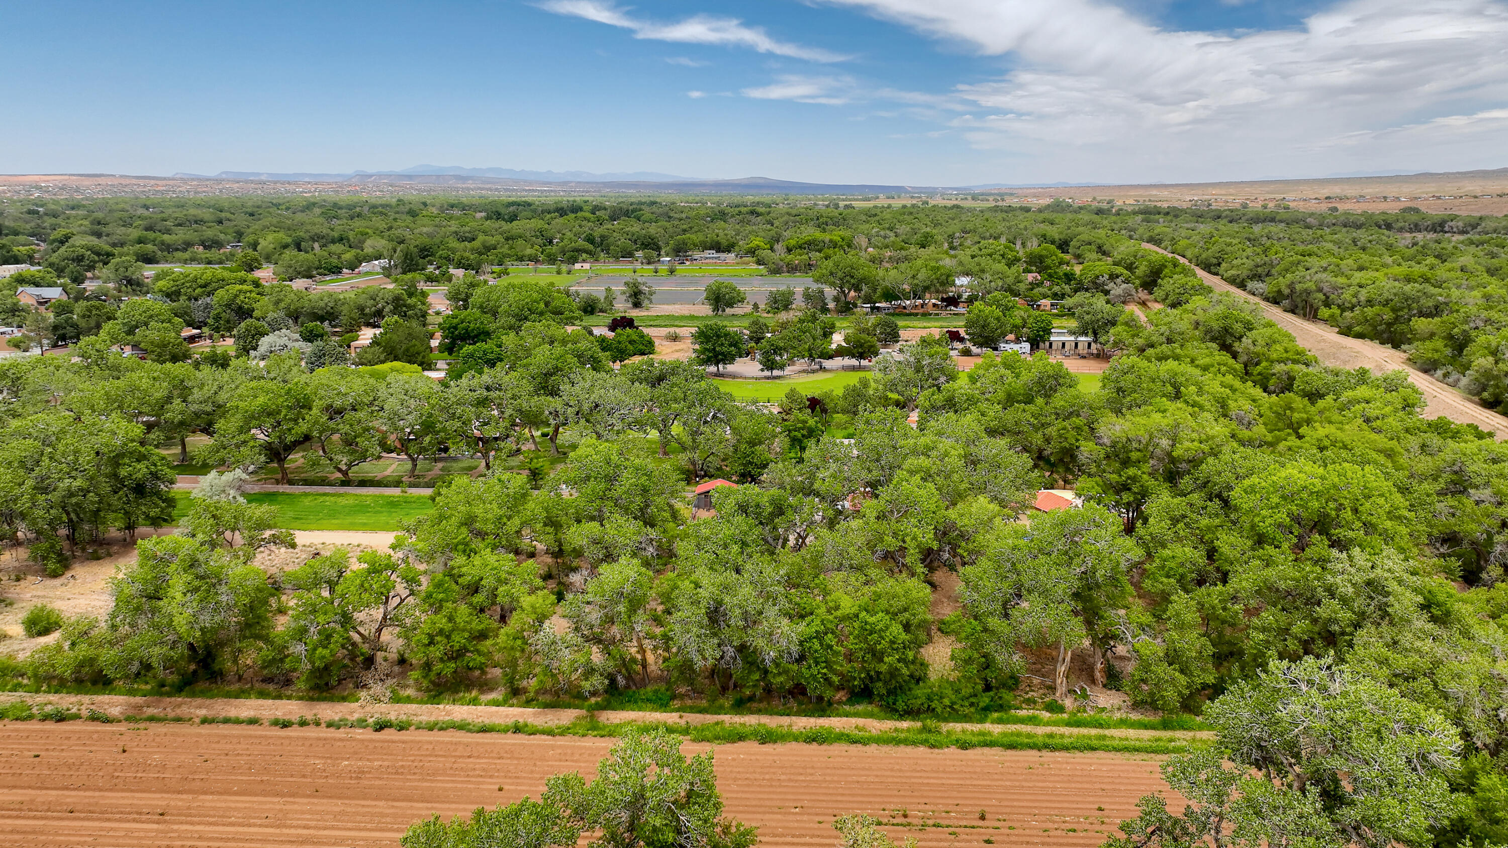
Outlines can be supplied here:
M0 171L1508 166L1508 0L20 3Z

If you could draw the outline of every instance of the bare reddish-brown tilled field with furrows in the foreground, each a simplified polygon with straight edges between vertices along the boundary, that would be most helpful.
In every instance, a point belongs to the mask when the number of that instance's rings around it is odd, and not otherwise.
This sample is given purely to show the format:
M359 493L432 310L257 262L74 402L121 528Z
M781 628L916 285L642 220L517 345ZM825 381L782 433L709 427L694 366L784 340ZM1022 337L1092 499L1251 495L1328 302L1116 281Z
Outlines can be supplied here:
M431 813L537 797L553 773L590 773L611 744L458 732L3 723L0 833L11 834L9 845L29 846L394 846L409 824ZM716 748L716 771L728 815L760 825L762 843L771 846L826 848L837 840L835 815L867 812L942 824L888 828L927 848L985 839L1090 848L1136 813L1142 794L1163 788L1157 757L980 748L742 742ZM900 807L909 815L891 818Z

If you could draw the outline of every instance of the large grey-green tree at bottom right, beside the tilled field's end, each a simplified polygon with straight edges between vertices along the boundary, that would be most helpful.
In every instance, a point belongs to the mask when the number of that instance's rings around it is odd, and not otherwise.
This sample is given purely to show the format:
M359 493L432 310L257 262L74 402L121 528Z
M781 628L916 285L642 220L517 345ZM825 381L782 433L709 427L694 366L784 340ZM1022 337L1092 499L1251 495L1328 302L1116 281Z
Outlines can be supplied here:
M1457 810L1451 723L1332 659L1273 662L1206 721L1218 744L1163 765L1184 815L1145 795L1107 848L1422 848Z

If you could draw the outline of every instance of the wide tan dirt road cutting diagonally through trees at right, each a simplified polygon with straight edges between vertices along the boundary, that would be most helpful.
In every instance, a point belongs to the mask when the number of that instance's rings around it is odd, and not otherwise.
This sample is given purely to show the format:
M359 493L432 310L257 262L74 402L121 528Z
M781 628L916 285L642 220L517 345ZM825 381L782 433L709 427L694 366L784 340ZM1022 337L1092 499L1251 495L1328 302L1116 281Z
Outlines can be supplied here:
M1167 253L1167 250L1158 247L1157 244L1143 243L1143 247L1157 250L1158 253ZM1181 261L1185 264L1188 260ZM1261 297L1253 297L1244 290L1231 285L1229 282L1220 279L1218 276L1194 266L1199 272L1199 278L1214 287L1217 291L1229 291L1237 297L1244 297L1253 303L1262 306L1262 312L1267 314L1277 326L1294 333L1298 344L1304 346L1309 353L1320 358L1320 362L1326 365L1335 365L1339 368L1371 368L1372 371L1393 371L1402 368L1413 385L1419 386L1425 398L1425 418L1449 418L1457 424L1476 424L1482 430L1490 430L1497 435L1497 441L1508 439L1508 418L1484 409L1481 404L1466 397L1464 394L1455 391L1454 388L1436 380L1430 374L1415 371L1408 367L1408 358L1401 350L1393 350L1384 344L1377 344L1365 338L1351 338L1341 335L1327 324L1320 324L1315 321L1306 321L1298 315L1285 312L1282 308L1262 300Z

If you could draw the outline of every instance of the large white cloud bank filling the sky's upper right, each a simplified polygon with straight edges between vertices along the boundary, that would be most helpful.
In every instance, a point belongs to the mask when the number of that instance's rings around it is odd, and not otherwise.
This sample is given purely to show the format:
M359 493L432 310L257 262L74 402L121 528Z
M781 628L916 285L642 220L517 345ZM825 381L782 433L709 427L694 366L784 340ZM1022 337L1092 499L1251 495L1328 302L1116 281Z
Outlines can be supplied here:
M825 2L1009 57L1001 77L950 92L970 115L949 122L1084 178L1460 167L1508 151L1508 0L1347 0L1237 36L1093 0Z

